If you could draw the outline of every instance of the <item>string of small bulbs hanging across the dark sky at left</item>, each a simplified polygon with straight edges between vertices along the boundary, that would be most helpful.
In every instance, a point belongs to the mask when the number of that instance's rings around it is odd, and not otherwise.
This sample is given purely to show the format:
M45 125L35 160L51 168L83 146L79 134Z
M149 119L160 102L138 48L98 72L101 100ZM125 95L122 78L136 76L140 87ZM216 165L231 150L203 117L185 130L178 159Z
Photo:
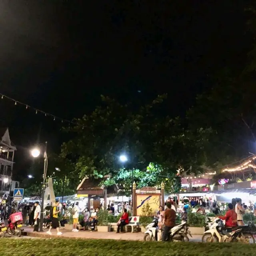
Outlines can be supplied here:
M44 115L46 117L52 118L52 120L54 120L54 121L55 120L59 120L62 123L65 122L65 123L68 123L68 124L74 123L74 122L72 122L70 120L61 118L59 116L55 116L55 115L53 115L51 113L45 112L45 111L40 110L38 108L34 108L34 107L30 106L29 104L20 102L19 100L15 100L15 99L13 99L13 98L5 95L5 94L0 93L0 100L4 100L4 99L7 99L7 100L10 100L10 101L14 102L15 106L20 105L20 106L24 107L26 110L28 110L28 109L32 110L34 112L34 114L42 114L42 115Z

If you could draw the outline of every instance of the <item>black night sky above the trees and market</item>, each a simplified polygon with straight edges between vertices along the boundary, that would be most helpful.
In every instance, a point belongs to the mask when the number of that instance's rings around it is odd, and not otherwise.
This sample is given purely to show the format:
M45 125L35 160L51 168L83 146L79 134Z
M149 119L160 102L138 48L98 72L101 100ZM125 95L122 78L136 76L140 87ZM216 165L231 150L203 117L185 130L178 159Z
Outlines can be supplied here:
M0 93L72 119L91 111L100 94L144 102L167 92L166 113L182 115L216 72L244 64L250 50L245 6L230 0L1 1ZM57 148L63 138L59 122L8 100L0 108L18 163L30 162L27 149L37 140Z

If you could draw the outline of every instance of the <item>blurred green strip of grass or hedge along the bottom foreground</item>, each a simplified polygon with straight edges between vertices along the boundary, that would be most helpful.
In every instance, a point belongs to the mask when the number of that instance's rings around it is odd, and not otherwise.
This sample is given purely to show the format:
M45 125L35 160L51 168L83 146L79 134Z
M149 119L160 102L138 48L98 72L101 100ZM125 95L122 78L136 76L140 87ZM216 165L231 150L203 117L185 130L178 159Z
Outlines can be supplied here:
M0 239L1 256L251 256L242 243L139 242L125 240Z

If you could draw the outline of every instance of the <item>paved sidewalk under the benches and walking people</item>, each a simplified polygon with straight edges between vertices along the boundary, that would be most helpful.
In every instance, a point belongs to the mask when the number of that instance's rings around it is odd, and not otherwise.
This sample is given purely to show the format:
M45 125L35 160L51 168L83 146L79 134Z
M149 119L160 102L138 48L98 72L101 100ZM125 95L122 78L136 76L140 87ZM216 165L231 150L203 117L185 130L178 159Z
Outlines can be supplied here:
M66 239L114 239L114 240L135 240L143 241L144 233L131 233L126 232L124 234L116 234L116 232L90 232L90 231L79 231L72 232L65 229L62 229L62 236L57 236L57 231L52 230L52 235L46 234L47 230L44 232L33 232L31 227L22 227L24 232L27 233L27 236L40 237L40 238L66 238ZM190 238L191 242L200 242L202 236L194 235L193 238Z

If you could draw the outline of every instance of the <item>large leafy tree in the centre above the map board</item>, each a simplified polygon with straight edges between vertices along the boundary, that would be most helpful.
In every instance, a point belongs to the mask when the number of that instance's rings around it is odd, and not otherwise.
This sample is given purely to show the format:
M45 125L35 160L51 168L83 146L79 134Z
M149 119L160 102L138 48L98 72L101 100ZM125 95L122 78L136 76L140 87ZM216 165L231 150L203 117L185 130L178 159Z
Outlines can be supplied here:
M151 162L157 166L154 172L160 171L163 177L174 177L179 169L200 171L211 130L185 130L180 118L161 116L165 98L166 95L158 96L151 104L134 109L132 104L121 105L102 96L102 106L67 129L74 138L62 144L61 157L75 164L81 178L111 174L112 181L127 182L134 169L141 185L142 177L147 177L144 184L160 183L160 179L153 175L151 180L147 173L153 172L147 169ZM121 154L128 157L125 169L119 161Z

